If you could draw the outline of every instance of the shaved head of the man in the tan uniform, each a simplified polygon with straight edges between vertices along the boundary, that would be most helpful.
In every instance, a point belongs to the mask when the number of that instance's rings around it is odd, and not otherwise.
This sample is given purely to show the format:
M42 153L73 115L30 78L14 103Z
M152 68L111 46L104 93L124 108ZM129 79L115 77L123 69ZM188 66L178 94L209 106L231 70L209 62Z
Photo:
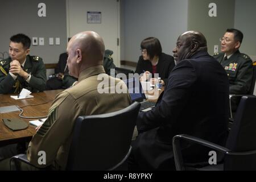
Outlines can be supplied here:
M79 77L84 69L103 64L105 46L100 35L85 31L72 37L67 52L69 74Z

